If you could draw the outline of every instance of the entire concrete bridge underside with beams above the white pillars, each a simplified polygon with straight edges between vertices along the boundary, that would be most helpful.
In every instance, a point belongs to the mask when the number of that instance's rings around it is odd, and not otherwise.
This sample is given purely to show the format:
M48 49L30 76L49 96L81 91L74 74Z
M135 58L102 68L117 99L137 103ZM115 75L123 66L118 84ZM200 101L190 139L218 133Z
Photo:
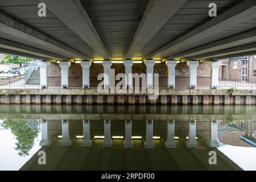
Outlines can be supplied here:
M46 4L46 17L38 4ZM256 54L256 1L0 2L0 52L39 60L218 60Z

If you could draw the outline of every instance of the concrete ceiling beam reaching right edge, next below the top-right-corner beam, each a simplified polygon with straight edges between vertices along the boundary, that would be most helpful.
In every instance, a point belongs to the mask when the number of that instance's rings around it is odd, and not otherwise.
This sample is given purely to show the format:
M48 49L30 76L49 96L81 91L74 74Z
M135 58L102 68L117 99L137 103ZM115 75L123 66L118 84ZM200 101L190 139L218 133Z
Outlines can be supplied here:
M185 59L196 55L202 55L212 51L218 51L225 48L239 46L241 44L251 43L256 41L256 29L243 32L242 34L234 35L229 38L221 39L213 43L205 44L200 47L190 49L188 51L180 52L171 55L170 59Z

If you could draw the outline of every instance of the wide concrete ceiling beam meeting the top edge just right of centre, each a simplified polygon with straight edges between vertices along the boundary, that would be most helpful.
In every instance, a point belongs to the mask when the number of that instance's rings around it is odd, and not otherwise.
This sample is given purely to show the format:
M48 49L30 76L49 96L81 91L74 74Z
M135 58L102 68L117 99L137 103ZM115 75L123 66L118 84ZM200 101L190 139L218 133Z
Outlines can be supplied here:
M126 58L132 59L133 56L142 56L140 55L141 49L146 46L185 2L187 0L150 0L135 32Z

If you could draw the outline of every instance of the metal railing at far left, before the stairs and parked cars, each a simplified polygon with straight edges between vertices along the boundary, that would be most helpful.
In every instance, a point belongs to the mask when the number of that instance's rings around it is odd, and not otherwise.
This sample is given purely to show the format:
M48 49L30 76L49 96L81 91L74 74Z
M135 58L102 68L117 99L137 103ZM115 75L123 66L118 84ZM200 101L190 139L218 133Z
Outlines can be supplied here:
M0 88L39 88L40 84L28 84L27 78L0 78Z

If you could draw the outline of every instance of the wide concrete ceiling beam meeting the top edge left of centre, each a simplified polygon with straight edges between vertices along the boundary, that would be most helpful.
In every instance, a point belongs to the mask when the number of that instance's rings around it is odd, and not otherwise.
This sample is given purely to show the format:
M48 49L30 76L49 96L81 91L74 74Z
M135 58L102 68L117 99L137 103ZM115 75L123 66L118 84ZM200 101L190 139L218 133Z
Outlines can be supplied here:
M47 9L55 14L65 25L67 25L86 44L101 55L104 59L110 59L100 36L93 26L88 14L80 1L76 0L39 0L46 3Z

